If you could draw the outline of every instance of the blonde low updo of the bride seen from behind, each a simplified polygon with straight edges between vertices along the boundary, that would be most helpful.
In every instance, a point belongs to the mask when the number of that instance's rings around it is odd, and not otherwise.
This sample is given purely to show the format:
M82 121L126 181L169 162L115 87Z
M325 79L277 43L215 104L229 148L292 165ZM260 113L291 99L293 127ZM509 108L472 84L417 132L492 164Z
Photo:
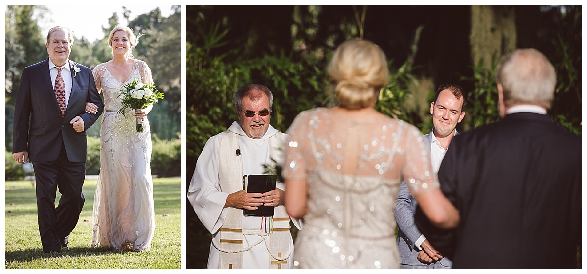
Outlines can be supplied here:
M345 109L373 106L381 87L389 83L385 54L367 40L348 40L338 46L328 75L335 82L336 100Z

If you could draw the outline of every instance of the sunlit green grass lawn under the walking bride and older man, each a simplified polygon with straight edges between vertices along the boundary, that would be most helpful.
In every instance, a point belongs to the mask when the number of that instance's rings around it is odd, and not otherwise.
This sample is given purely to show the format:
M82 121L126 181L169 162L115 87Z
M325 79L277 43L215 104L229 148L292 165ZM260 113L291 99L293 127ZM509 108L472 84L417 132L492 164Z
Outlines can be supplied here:
M180 269L180 178L154 178L155 235L151 250L143 253L90 248L92 206L96 180L86 180L86 201L79 222L69 237L69 249L43 253L36 215L35 188L30 181L5 182L6 269ZM56 205L59 201L57 193Z

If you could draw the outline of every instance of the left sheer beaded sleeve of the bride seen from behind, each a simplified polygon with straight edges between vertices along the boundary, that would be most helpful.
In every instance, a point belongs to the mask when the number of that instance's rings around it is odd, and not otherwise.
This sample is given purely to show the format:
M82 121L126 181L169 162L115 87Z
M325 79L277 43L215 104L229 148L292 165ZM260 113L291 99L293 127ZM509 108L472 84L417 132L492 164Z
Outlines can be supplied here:
M282 165L282 177L285 179L306 178L306 146L308 146L309 111L302 111L287 130L285 142L285 162Z

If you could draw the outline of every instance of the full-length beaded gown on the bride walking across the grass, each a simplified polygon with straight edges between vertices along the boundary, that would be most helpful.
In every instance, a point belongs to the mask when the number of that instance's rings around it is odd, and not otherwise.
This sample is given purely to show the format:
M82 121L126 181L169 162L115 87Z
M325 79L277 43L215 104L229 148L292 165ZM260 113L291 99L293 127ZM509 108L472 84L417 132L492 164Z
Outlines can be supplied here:
M145 62L134 60L133 70L124 83L110 74L106 63L96 66L93 74L96 87L104 96L104 114L92 247L148 251L155 230L149 120L143 121L144 132L137 133L134 110L127 111L126 117L118 110L122 106L119 95L123 84L134 78L150 83L151 70Z

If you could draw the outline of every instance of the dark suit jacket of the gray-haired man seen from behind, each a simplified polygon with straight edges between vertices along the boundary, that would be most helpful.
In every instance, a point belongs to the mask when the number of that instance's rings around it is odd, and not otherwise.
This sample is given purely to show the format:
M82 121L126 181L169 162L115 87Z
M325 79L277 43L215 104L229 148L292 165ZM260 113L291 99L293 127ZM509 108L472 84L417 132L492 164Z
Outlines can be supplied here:
M548 116L512 113L455 136L438 179L460 224L434 231L421 210L416 224L432 245L452 250L453 268L577 267L581 137Z

